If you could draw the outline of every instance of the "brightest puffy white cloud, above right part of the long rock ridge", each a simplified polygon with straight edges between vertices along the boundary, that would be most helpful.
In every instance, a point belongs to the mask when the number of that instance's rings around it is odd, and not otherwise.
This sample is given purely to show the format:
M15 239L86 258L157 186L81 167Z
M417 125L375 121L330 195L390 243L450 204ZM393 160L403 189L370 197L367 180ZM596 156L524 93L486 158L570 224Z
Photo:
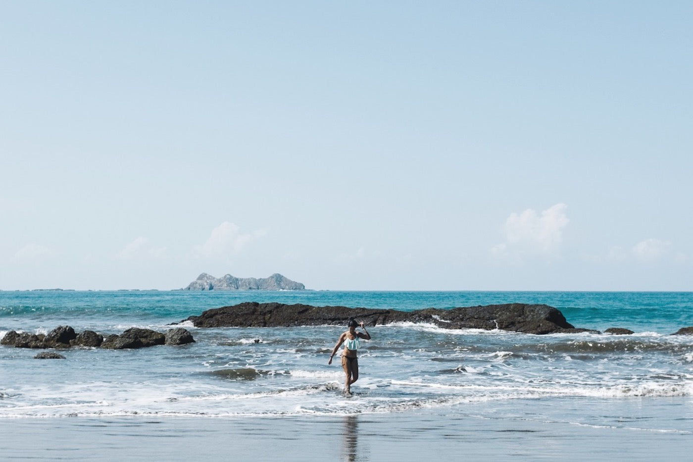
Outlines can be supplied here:
M525 255L556 255L563 242L563 228L568 225L568 208L563 203L552 205L538 214L526 209L513 212L505 221L505 242L493 246L491 255L499 259L522 259Z

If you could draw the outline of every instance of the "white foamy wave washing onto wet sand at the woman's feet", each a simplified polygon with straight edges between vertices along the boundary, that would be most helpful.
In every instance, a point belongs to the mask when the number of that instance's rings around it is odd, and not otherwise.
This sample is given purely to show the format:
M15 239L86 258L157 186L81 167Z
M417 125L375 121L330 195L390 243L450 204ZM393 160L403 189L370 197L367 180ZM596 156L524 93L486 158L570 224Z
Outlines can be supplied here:
M541 400L554 397L687 397L693 395L690 377L682 384L643 382L635 386L611 387L532 386L531 384L483 385L441 384L412 380L389 383L371 381L344 395L339 382L304 384L250 392L201 387L200 393L160 388L145 391L100 391L92 400L62 399L50 402L17 403L0 407L0 418L98 417L98 416L345 416L368 413L395 413L416 409L455 408L464 404ZM111 384L114 386L114 384ZM93 386L91 391L97 388ZM189 392L189 390L188 390ZM163 394L162 394L163 393ZM109 395L105 398L104 395ZM12 395L7 395L11 400ZM53 398L54 399L54 398ZM8 404L8 403L6 403Z

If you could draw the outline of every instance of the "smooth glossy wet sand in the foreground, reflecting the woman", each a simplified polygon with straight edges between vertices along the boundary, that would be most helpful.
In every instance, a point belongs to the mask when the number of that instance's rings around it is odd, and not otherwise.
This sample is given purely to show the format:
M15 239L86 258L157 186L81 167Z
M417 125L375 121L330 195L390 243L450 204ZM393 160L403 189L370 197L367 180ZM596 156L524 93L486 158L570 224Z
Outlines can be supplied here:
M685 460L681 431L430 411L340 417L0 420L3 460Z

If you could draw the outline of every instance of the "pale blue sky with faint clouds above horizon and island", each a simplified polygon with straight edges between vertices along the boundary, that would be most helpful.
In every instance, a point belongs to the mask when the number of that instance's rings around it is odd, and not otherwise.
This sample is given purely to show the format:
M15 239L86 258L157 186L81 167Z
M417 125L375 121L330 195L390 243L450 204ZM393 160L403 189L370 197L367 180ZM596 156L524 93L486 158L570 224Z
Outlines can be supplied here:
M0 290L693 290L690 1L0 0Z

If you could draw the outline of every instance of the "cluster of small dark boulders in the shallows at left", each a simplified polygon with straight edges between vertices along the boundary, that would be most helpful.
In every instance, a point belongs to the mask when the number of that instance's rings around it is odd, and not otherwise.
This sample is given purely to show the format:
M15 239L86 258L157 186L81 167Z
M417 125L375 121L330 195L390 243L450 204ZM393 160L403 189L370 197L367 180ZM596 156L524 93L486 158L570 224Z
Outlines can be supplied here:
M112 334L104 338L103 335L91 330L85 330L78 334L69 325L61 325L55 327L47 335L10 330L0 340L0 345L8 345L15 348L56 348L60 350L76 346L123 350L125 348L145 348L153 345L185 345L186 343L194 342L193 335L182 327L170 329L165 334L150 329L132 327L120 335ZM48 356L47 354L43 355L43 357Z

